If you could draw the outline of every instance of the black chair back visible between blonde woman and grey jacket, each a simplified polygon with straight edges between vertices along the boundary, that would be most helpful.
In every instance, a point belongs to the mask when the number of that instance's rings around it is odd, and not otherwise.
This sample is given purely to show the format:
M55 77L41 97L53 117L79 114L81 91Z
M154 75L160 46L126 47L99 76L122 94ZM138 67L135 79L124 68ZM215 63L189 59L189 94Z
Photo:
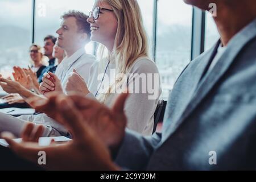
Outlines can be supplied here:
M155 114L154 114L154 129L152 134L155 133L158 123L163 121L164 112L166 110L166 104L167 104L167 101L164 101L164 100L159 100L158 102L158 106L156 107Z

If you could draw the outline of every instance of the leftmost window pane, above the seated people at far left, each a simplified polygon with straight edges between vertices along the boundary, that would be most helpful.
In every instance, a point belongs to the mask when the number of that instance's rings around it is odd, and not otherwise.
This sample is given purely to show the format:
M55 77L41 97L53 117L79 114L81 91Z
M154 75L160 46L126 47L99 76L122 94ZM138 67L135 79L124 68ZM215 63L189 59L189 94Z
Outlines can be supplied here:
M32 1L1 0L0 7L0 73L8 77L14 65L26 67L30 60Z

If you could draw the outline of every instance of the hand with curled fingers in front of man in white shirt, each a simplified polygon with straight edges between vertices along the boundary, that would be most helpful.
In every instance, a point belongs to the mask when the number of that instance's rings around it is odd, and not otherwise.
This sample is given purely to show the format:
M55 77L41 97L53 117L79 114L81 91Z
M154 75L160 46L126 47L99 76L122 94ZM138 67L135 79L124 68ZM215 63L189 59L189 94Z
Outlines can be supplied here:
M40 84L39 90L44 96L49 97L52 92L63 93L61 82L54 73L44 73L42 80L43 82Z

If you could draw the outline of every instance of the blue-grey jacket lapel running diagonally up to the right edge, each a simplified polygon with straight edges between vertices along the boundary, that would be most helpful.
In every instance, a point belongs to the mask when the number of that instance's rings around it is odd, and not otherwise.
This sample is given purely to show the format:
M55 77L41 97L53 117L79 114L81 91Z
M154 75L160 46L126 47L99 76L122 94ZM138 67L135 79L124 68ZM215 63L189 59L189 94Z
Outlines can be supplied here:
M214 66L212 71L208 72L207 75L199 82L195 94L193 94L191 101L187 105L181 117L172 124L172 127L168 130L168 136L185 121L185 119L196 109L197 106L203 101L205 96L213 89L213 86L217 84L218 80L228 71L230 65L232 65L234 59L241 52L242 48L256 36L256 20L253 21L248 27L245 28L240 34L236 35L234 39L230 40L228 47L224 54L220 57L217 64ZM209 59L209 57L206 57ZM203 73L202 73L203 75Z

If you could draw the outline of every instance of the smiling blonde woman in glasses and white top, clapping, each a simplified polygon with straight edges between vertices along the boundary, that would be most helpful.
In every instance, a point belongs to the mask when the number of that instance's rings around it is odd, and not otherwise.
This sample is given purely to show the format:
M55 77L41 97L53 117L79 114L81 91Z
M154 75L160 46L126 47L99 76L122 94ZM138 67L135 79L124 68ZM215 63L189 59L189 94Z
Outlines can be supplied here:
M127 127L151 135L162 90L158 68L148 57L147 37L138 2L98 0L88 22L92 30L91 40L101 44L100 61L90 70L88 86L74 70L65 91L80 92L111 106L118 96L117 89L127 85L130 92L125 105ZM120 73L122 76L117 76ZM134 81L145 76L146 80ZM148 85L154 88L154 92L150 92ZM152 95L155 97L151 98Z

